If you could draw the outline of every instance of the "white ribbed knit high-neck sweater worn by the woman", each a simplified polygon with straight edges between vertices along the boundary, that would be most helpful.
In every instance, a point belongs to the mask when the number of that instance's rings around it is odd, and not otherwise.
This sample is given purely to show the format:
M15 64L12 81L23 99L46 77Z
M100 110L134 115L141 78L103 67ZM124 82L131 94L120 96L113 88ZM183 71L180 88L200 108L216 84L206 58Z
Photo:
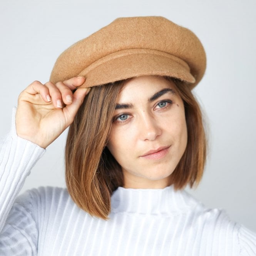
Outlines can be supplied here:
M119 187L109 221L77 207L62 188L32 189L13 202L43 152L17 136L2 141L1 256L256 255L255 233L172 186Z

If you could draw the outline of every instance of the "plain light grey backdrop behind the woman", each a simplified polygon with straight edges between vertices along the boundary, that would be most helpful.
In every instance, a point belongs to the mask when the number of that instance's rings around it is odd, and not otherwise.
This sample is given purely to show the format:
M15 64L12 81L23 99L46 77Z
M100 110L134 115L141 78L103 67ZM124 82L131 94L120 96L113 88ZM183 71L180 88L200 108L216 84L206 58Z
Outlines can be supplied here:
M194 93L209 127L208 161L199 187L187 191L256 231L255 10L255 0L1 0L0 134L9 130L20 91L33 80L47 82L71 44L117 17L164 16L196 33L207 54L206 74ZM47 148L22 191L65 186L65 137Z

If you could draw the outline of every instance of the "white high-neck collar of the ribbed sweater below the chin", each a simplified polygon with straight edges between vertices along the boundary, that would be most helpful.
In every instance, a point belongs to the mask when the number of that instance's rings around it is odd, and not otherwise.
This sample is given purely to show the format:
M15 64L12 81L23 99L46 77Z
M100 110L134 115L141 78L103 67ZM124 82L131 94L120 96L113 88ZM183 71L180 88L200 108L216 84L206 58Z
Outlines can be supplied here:
M111 212L176 215L198 206L198 201L184 190L126 189L118 187L111 197Z

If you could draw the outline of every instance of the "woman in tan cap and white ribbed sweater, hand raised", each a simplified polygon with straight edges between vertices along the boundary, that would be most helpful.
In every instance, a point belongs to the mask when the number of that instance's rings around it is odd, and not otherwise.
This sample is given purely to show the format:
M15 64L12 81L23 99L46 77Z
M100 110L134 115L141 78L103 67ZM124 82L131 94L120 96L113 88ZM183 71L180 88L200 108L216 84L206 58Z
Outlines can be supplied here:
M191 89L205 63L198 38L162 17L119 18L60 55L51 82L20 94L3 142L1 255L256 255L253 232L182 190L204 168ZM68 192L16 198L69 125Z

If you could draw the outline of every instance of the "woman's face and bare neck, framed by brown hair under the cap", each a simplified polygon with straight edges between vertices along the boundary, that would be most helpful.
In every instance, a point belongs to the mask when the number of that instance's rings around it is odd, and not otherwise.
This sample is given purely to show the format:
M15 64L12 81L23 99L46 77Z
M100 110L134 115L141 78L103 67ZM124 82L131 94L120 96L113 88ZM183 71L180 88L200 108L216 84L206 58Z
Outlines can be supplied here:
M164 188L187 145L184 104L172 82L129 80L117 99L107 147L122 167L126 188Z

